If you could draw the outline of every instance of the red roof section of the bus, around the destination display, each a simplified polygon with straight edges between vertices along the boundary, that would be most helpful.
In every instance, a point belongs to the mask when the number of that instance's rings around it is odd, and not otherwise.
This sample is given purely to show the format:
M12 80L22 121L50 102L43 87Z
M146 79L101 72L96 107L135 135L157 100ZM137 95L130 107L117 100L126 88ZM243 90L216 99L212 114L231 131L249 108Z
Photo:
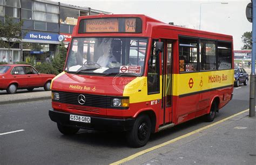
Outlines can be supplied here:
M194 30L191 28L170 25L163 23L157 19L145 16L145 15L94 15L94 16L81 16L78 18L78 26L80 20L83 19L100 19L100 18L140 18L142 20L142 32L141 33L97 33L98 37L110 36L110 34L114 34L114 36L133 36L133 37L158 37L158 38L170 38L170 30L173 31L173 34L176 34L176 37L172 34L173 39L178 39L179 35L190 36L190 37L200 37L200 38L211 38L217 40L227 40L232 41L232 35L213 33L208 31ZM73 37L83 37L85 33L78 33L78 26L76 26L73 30ZM166 32L164 32L166 31ZM86 37L95 36L96 33L86 33ZM169 36L166 36L169 35Z

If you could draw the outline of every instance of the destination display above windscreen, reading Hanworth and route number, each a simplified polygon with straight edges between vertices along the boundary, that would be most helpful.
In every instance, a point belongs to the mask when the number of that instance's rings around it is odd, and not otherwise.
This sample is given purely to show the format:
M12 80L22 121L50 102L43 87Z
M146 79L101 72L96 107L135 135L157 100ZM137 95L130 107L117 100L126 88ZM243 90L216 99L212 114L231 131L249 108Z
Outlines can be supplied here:
M79 33L141 33L142 20L139 18L98 18L83 19Z

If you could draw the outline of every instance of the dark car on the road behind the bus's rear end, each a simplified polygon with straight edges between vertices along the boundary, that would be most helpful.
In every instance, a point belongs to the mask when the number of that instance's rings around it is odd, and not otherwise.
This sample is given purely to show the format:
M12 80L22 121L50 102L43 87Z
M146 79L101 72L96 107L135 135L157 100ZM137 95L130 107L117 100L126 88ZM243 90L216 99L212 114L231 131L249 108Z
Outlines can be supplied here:
M239 84L244 83L247 85L249 76L246 73L244 68L235 68L234 69L234 87L239 87Z

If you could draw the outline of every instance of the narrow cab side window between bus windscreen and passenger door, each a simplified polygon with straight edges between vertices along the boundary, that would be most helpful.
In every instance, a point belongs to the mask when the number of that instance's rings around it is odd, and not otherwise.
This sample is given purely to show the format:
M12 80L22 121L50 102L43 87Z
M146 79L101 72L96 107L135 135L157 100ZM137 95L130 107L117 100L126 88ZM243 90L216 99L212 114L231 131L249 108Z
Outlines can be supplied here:
M152 50L147 70L147 94L160 92L159 86L159 55L156 55L156 40L152 42Z

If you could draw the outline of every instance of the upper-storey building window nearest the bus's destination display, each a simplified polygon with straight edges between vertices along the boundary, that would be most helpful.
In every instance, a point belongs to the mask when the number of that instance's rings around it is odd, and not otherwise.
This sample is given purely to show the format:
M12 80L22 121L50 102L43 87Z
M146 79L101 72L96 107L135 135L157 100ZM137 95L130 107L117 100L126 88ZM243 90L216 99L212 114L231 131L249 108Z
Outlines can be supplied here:
M65 8L62 6L59 8L60 24L76 25L78 16L79 10L77 9Z

